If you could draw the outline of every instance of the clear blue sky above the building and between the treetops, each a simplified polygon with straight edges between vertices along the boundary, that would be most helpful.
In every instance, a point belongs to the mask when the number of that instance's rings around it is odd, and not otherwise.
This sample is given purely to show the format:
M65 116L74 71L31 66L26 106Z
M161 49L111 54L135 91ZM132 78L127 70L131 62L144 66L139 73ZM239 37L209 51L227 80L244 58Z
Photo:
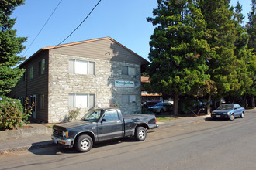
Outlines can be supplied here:
M61 3L57 7L59 2ZM28 58L43 47L56 46L62 42L98 2L99 0L26 0L25 5L16 7L11 15L11 18L16 18L13 26L13 29L17 29L16 35L28 37L23 44L26 49L21 55ZM250 3L251 0L240 0L245 22L248 21L247 13L251 11ZM231 5L236 4L237 0L231 0ZM157 8L157 0L102 0L88 19L62 44L109 36L148 60L149 41L154 27L147 22L147 17L153 17L154 8ZM52 12L54 14L47 22Z

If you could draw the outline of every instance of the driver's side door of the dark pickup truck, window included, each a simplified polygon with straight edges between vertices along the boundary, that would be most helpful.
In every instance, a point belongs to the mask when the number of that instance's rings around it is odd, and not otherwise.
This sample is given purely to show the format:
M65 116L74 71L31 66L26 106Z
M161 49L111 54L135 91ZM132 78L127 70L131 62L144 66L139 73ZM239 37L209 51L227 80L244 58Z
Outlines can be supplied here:
M117 110L108 110L97 125L99 141L122 138L123 137L123 122L119 118Z

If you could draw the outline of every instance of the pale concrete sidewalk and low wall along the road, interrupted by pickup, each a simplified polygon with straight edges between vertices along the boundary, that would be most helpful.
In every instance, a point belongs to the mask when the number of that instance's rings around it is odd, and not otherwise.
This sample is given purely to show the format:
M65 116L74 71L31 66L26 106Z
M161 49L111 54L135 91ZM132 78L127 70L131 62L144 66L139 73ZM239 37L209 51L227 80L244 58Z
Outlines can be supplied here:
M157 124L159 124L159 128L170 128L172 126L182 126L185 124L199 123L205 121L207 117L210 117L210 115L199 117L178 117L178 119L176 120L158 122ZM0 154L5 154L11 151L24 151L34 148L45 148L54 145L54 142L50 138L50 128L46 128L42 124L29 125L33 127L27 130L29 134L14 130L17 131L16 133L23 134L22 136L12 134L12 136L16 136L16 138L9 138L3 140L3 138L1 138L3 136L2 132L6 131L0 131ZM9 131L7 133L9 133Z

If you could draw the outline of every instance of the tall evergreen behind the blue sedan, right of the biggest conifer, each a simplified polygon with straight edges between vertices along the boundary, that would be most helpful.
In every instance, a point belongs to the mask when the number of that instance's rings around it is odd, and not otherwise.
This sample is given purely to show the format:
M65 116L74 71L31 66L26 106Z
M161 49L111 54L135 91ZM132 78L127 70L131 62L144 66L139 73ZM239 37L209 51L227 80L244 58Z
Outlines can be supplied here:
M220 100L226 93L240 88L236 70L239 61L234 56L234 44L237 41L232 19L234 12L229 0L200 0L199 8L207 23L209 38L206 40L214 52L207 60L207 73L217 89L215 97Z

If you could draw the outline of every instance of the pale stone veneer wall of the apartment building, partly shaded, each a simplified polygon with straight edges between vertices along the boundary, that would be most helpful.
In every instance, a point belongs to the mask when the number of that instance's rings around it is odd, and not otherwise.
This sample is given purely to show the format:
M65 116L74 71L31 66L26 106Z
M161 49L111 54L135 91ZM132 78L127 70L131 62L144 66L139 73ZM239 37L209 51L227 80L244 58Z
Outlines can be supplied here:
M95 62L95 75L68 73L68 59ZM122 75L122 66L135 68L136 76ZM133 81L134 87L115 87L115 80ZM119 104L123 114L140 114L140 65L81 56L49 54L48 121L64 121L68 115L68 94L95 94L95 107ZM123 104L123 94L136 95L136 102ZM81 118L89 108L81 109Z

